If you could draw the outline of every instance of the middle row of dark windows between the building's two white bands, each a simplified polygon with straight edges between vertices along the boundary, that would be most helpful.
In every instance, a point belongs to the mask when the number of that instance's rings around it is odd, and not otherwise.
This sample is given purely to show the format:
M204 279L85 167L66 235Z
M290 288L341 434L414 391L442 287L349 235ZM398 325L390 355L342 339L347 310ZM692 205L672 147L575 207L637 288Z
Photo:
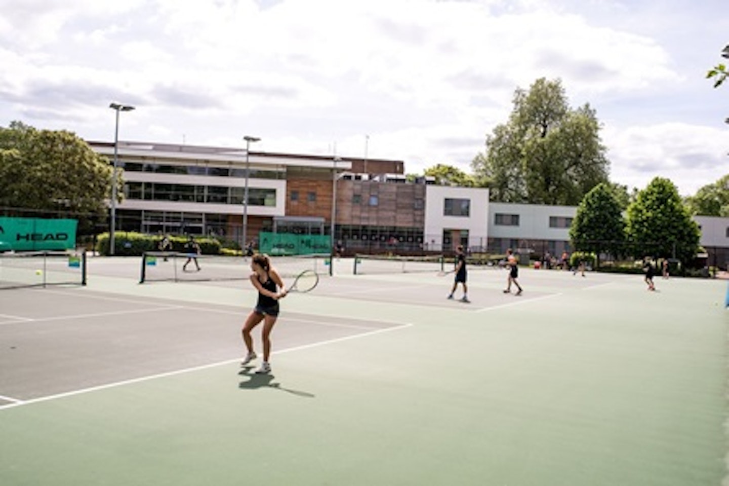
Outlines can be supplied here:
M162 184L160 182L127 182L124 195L144 201L184 201L212 204L243 204L245 188L214 185ZM250 206L276 206L276 189L248 189Z

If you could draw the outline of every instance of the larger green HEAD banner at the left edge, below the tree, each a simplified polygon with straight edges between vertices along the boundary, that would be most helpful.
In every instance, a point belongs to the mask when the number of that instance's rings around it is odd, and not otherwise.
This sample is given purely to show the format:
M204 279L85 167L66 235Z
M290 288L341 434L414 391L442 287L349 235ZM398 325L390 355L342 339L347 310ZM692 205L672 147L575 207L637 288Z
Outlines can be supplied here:
M78 220L0 217L0 251L72 250Z

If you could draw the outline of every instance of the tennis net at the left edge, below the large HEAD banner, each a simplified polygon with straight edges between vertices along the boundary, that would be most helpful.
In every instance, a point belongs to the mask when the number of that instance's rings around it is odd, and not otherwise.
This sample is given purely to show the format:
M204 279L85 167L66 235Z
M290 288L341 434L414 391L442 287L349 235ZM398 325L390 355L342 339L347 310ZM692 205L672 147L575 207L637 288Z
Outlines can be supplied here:
M0 289L86 285L86 254L34 251L0 253Z

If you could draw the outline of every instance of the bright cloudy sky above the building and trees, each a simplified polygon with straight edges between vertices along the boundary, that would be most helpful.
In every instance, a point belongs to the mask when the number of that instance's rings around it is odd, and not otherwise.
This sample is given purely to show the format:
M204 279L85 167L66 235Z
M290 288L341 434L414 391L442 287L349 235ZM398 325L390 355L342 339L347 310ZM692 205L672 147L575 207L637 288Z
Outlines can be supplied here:
M470 172L516 88L560 78L614 182L729 174L727 0L0 0L0 126ZM728 61L729 62L729 61Z

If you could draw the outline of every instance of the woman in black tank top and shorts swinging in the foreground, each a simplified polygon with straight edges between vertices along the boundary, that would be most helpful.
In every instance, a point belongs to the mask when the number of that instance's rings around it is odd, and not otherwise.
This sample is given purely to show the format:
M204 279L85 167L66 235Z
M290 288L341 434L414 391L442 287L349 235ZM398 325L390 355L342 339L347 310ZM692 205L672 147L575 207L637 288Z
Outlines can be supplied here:
M263 341L263 363L256 373L270 373L271 367L268 358L271 352L270 334L278 317L278 299L286 296L288 291L284 281L276 269L271 266L270 258L264 253L257 253L251 261L251 283L258 290L258 301L243 325L243 342L246 343L248 354L241 365L246 365L256 358L253 350L251 331L264 321L261 339Z

